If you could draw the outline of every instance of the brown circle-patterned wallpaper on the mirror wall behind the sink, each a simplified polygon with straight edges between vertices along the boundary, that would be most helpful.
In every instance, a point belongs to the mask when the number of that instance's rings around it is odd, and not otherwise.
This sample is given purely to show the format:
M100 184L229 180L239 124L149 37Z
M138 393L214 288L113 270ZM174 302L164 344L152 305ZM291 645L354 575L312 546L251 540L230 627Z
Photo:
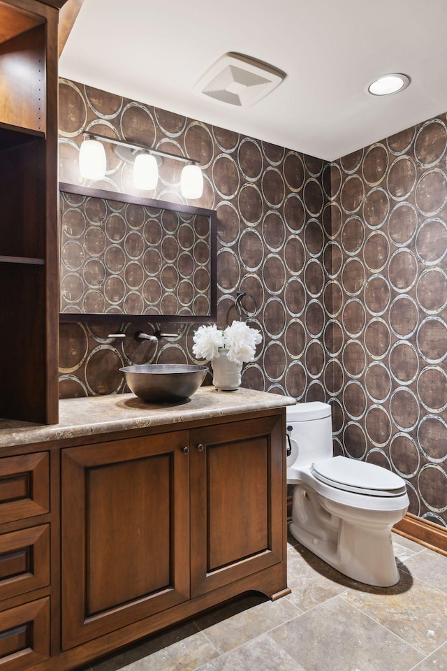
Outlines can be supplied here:
M204 193L189 204L217 211L219 327L237 318L237 291L252 294L258 305L251 326L261 329L263 342L256 361L244 366L242 384L325 400L322 334L331 297L322 263L324 226L330 223L323 161L67 80L60 80L59 96L62 182L183 202L181 163L163 159L156 192L135 192L131 167L111 145L105 145L105 178L82 182L78 152L87 130L200 159ZM130 363L195 361L196 328L163 326L175 334L180 329L179 335L152 345L136 342L133 333L141 326L125 321L108 326L62 323L61 398L128 391L119 368ZM129 334L124 341L108 338L122 329Z

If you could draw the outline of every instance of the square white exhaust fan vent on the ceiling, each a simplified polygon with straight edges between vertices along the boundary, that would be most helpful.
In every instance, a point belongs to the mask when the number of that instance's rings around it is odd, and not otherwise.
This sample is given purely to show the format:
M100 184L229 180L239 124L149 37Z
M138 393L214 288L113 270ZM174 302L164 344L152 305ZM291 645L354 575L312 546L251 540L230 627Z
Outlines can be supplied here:
M200 77L193 92L223 105L250 107L276 88L285 76L267 63L229 53Z

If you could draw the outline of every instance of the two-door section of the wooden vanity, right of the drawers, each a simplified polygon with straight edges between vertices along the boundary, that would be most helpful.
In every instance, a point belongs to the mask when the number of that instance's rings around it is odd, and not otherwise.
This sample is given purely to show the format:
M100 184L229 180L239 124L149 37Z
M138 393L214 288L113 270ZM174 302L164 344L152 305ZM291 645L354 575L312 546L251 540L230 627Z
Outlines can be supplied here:
M61 450L66 654L80 647L82 663L89 646L104 654L251 589L287 593L283 423L270 412Z

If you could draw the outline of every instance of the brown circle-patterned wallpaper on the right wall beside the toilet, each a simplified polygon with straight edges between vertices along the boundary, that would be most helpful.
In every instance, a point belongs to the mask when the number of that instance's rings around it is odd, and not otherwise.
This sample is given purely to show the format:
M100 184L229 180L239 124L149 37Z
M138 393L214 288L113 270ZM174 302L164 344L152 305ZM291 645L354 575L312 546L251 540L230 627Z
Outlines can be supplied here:
M404 477L410 512L444 526L446 150L441 115L331 164L325 245L339 450Z

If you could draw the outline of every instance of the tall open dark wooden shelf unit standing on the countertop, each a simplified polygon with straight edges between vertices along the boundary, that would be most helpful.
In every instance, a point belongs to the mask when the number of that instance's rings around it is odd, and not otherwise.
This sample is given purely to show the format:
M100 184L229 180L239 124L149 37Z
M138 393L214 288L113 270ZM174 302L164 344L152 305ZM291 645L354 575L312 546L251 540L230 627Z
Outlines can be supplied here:
M58 421L57 26L0 1L0 417Z

